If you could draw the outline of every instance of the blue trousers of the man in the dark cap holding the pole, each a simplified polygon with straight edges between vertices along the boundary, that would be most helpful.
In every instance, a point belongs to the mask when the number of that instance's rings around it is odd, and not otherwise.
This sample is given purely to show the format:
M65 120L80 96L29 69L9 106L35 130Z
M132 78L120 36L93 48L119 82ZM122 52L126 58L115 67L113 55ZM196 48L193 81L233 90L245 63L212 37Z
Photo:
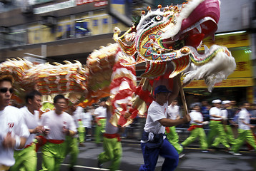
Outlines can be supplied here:
M161 147L148 148L146 147L146 143L141 143L141 146L144 157L144 165L139 167L139 171L154 171L159 155L164 157L162 171L172 171L177 167L179 162L179 154L166 138L163 140Z

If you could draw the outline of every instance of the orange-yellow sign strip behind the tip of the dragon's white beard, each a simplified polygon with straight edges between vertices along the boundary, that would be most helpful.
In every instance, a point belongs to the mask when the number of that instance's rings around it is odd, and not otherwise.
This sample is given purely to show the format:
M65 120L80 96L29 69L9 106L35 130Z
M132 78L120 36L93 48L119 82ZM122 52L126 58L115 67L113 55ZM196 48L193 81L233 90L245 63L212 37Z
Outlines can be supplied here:
M215 88L223 87L250 87L253 86L252 78L227 78L221 83L215 84ZM184 88L207 88L204 80L192 81Z

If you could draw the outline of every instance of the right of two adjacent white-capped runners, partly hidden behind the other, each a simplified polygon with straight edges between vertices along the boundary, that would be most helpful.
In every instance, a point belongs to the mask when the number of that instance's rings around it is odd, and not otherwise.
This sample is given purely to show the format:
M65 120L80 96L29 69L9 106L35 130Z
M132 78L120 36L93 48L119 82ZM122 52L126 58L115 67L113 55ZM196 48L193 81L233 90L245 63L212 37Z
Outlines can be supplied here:
M227 137L227 142L231 145L235 145L235 138L234 138L234 134L231 128L231 125L235 125L234 121L232 121L232 118L234 117L232 115L232 111L231 110L227 110L227 108L230 108L230 100L224 100L222 101L222 105L224 108L222 108L222 115L224 120L222 120L223 126L224 126L224 130L226 133L226 137ZM215 139L215 142L213 143L215 146L219 145L221 142L220 137L217 137Z

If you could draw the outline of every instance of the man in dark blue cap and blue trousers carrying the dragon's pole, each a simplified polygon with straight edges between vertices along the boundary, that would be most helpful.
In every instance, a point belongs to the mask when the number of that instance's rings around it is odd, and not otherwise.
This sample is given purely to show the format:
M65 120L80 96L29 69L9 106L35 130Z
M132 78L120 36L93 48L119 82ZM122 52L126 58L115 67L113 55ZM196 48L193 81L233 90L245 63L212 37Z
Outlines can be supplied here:
M167 118L168 105L172 103L172 100L177 97L179 92L177 87L174 86L172 93L165 86L157 86L154 89L155 100L149 105L141 140L144 165L139 167L139 171L154 170L159 155L164 157L162 170L172 171L178 165L178 152L164 135L164 127L180 125L190 120L189 115L184 115L184 118L179 120Z

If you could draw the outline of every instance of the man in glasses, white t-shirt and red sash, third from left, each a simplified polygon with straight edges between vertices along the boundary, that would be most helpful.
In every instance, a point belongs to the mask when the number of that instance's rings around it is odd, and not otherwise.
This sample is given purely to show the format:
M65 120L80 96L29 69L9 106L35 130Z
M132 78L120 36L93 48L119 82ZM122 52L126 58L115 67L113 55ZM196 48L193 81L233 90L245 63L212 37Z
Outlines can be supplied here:
M64 112L67 109L64 95L54 97L54 108L55 110L41 115L41 125L49 128L46 143L41 150L42 170L59 170L66 157L66 136L74 136L77 133L74 119Z

